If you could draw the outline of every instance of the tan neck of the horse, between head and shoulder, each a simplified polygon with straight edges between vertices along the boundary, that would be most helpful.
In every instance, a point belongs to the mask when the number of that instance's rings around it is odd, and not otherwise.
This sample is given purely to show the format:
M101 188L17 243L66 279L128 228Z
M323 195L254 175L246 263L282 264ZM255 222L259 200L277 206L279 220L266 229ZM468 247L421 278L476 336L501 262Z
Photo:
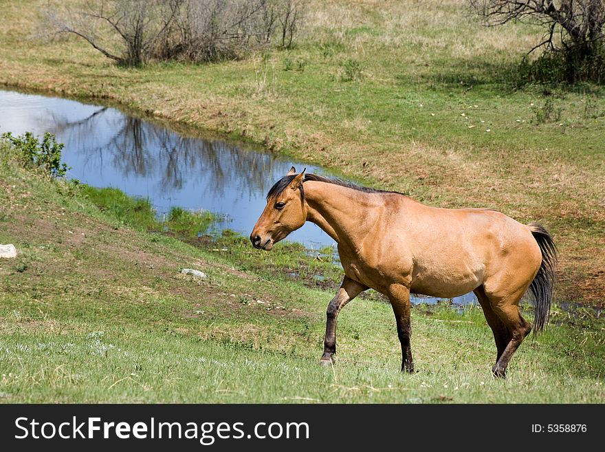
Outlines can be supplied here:
M307 220L340 246L355 247L378 217L375 194L327 182L305 182Z

